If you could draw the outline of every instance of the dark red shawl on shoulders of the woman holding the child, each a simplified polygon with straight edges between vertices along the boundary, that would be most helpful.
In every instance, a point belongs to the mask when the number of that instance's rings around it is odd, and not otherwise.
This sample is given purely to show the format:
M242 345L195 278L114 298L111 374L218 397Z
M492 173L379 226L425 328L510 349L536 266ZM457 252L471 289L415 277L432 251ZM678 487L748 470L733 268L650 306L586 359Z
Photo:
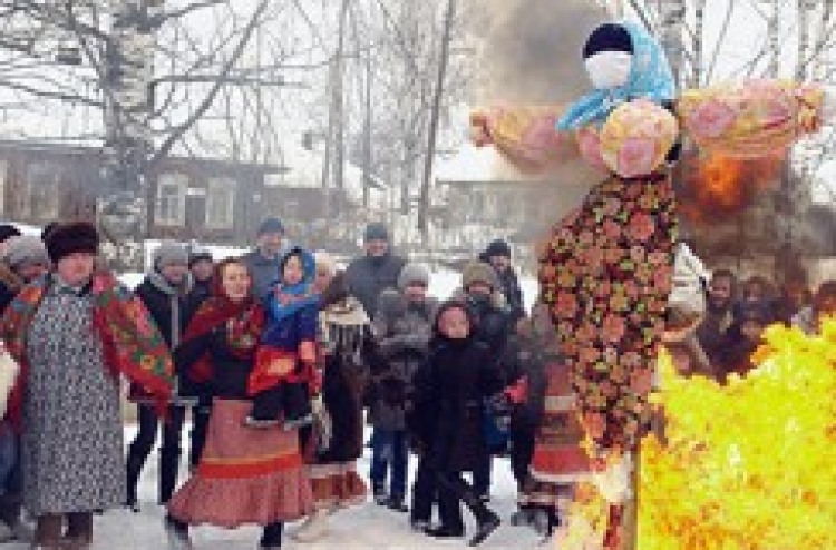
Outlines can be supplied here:
M188 344L206 336L215 328L226 325L226 342L230 350L241 357L249 356L259 344L264 328L264 310L252 297L233 302L224 295L214 295L201 304L183 336ZM207 382L213 374L208 351L191 366L189 376L197 383Z

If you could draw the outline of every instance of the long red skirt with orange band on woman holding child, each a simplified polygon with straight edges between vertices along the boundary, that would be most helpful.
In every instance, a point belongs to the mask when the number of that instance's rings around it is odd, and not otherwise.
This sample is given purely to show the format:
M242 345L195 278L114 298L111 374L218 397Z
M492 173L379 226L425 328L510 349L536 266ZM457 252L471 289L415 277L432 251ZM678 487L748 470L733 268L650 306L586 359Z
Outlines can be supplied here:
M313 510L295 431L244 426L249 401L215 400L196 473L168 503L186 523L233 529L292 521Z

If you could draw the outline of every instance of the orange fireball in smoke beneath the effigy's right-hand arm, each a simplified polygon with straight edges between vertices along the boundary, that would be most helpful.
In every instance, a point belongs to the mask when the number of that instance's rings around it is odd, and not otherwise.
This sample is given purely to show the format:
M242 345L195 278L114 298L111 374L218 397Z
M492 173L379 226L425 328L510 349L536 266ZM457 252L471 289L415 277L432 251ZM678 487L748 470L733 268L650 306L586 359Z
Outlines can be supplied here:
M759 193L776 186L782 164L780 156L741 159L707 154L690 158L683 163L680 212L697 224L739 213Z

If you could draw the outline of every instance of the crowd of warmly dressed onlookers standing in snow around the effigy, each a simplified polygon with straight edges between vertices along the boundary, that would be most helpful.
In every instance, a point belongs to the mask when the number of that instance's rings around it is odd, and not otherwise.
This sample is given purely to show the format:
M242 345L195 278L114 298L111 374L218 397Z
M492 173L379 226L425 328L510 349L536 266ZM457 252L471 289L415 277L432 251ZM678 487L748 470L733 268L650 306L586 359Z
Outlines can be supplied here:
M140 510L158 433L157 504L175 549L193 548L200 524L261 526L262 549L280 548L294 521L290 537L320 540L329 517L367 493L439 539L465 538L464 504L477 546L500 523L497 455L517 483L511 523L548 537L591 471L551 312L526 312L503 240L439 303L428 269L399 257L382 224L366 228L364 254L344 269L290 246L276 218L252 252L220 262L164 242L133 291L100 266L98 239L85 223L40 237L0 226L0 540L89 548L97 513ZM836 282L816 293L804 283L770 295L762 278L713 272L706 314L669 342L677 365L723 382L751 367L767 325L817 331L836 313ZM138 420L127 453L123 380ZM189 473L178 480L187 416ZM370 471L358 472L367 446Z

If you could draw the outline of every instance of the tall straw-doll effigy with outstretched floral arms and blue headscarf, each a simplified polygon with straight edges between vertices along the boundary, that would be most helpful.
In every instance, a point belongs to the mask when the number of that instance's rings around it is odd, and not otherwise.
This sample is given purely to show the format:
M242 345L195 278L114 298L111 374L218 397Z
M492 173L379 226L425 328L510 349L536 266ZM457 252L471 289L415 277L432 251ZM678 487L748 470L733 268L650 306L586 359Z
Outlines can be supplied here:
M680 138L717 158L762 158L817 131L836 97L771 80L678 92L659 42L632 22L595 28L583 60L595 89L568 108L503 107L475 112L472 125L478 145L527 173L552 169L572 147L609 173L555 224L539 282L595 466L576 495L577 510L590 513L576 510L568 530L616 549L635 539L631 472L659 415L650 397L679 235L670 167Z

